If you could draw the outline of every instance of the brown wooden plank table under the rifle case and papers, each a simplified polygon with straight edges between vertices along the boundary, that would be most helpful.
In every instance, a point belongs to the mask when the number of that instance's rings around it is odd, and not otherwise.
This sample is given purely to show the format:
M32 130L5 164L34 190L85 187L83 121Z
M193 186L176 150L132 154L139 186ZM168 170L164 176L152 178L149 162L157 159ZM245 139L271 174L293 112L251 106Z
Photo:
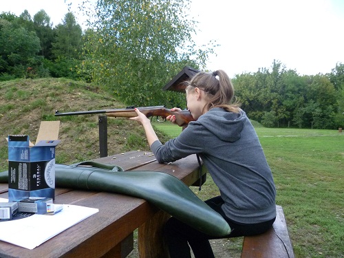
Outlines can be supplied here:
M129 151L95 161L117 164L126 171L162 171L188 186L199 178L195 155L159 164L151 152ZM205 178L204 167L202 175ZM8 198L8 184L0 184L0 197ZM98 208L99 212L33 250L0 241L0 257L126 257L133 249L136 228L140 257L166 257L161 227L169 215L145 200L115 193L56 189L54 202Z

